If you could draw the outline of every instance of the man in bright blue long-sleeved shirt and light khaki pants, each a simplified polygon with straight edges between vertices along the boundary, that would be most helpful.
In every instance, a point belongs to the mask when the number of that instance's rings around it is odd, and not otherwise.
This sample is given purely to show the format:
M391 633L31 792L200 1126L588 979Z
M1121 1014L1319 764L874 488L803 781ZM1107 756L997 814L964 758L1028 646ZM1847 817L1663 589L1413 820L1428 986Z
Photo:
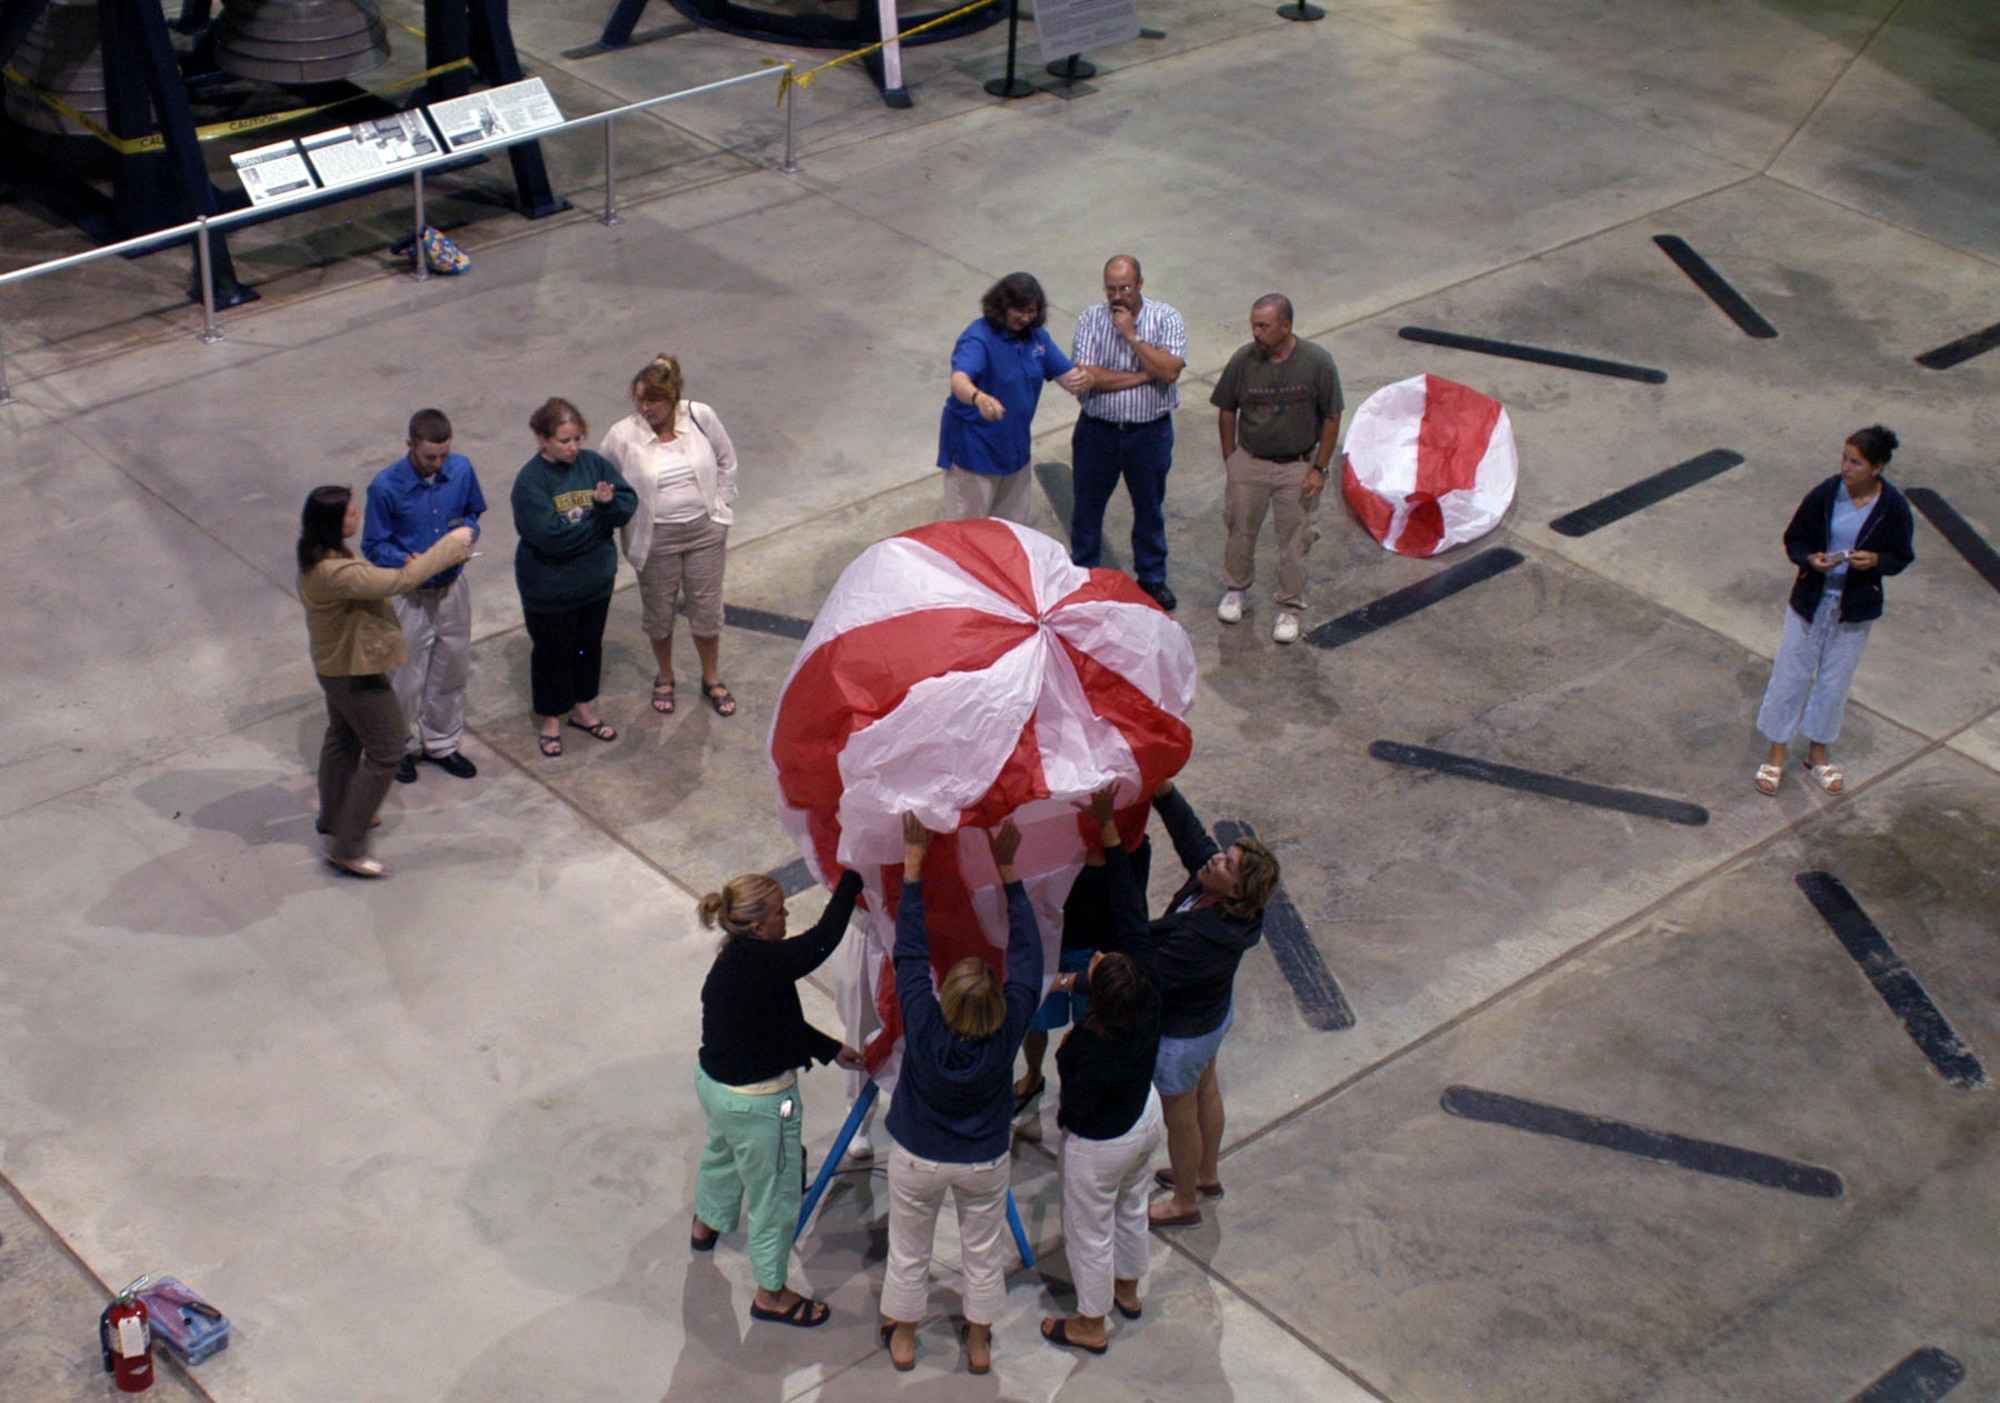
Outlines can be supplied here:
M430 550L454 526L480 530L486 498L472 464L452 452L452 422L442 410L410 416L410 452L368 484L362 554L386 570ZM466 678L472 672L472 594L464 566L432 576L394 600L408 662L396 670L396 700L412 727L396 779L416 781L416 761L448 775L478 773L458 753L466 731Z

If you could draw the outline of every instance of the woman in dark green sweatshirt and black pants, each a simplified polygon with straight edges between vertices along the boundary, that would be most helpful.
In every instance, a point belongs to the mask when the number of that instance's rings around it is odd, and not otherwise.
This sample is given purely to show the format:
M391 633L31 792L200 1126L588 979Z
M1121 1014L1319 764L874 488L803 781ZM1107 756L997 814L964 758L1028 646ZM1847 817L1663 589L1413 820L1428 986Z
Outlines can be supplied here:
M550 400L528 420L542 448L514 478L514 584L528 624L528 678L542 753L562 753L562 723L618 739L590 705L604 662L604 616L618 578L618 528L638 496L618 470L584 448L584 416Z

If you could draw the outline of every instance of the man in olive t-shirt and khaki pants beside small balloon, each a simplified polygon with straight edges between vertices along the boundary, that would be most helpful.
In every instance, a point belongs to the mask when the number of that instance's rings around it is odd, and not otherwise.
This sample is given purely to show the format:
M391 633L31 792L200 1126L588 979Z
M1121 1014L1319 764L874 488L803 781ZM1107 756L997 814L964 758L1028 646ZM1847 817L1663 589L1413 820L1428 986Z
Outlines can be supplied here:
M1334 358L1292 336L1292 302L1276 292L1250 306L1250 344L1230 356L1208 402L1220 410L1224 520L1222 604L1216 618L1244 616L1256 580L1256 538L1270 510L1278 530L1278 620L1270 636L1298 642L1306 608L1306 552L1318 538L1326 466L1340 438L1340 372Z

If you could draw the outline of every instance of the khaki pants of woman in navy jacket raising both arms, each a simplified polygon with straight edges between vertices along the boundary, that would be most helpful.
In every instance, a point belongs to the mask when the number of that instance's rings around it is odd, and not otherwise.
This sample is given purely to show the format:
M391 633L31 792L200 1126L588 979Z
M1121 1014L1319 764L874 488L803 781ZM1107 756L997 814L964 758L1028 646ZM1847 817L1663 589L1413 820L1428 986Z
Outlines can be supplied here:
M1012 1167L1006 1155L980 1165L946 1165L918 1159L902 1145L890 1149L882 1319L924 1319L930 1303L930 1249L946 1193L958 1209L966 1319L974 1325L1000 1319L1006 1309L1006 1187Z

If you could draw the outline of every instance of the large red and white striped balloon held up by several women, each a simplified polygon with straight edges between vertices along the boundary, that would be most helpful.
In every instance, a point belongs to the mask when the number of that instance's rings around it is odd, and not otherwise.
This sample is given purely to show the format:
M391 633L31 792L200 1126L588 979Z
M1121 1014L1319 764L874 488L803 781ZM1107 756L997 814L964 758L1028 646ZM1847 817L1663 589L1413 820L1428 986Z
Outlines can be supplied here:
M1050 538L994 518L876 542L834 584L784 682L770 729L778 813L814 875L862 875L862 967L896 1075L890 969L902 815L942 833L924 863L932 969L980 955L1004 973L1006 899L986 841L1020 827L1016 867L1056 973L1062 903L1084 863L1078 803L1118 783L1120 831L1188 759L1194 648L1114 570L1082 570Z

